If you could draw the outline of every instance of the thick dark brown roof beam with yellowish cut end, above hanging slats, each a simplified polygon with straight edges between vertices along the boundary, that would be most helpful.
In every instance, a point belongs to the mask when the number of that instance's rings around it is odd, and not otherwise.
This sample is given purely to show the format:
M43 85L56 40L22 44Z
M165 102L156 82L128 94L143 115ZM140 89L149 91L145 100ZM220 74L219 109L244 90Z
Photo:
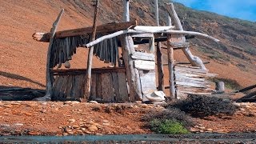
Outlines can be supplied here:
M121 22L121 23L108 23L101 26L97 26L97 34L102 33L111 33L118 30L126 30L131 26L137 26L137 21L132 22ZM84 27L72 30L62 30L57 31L55 34L55 38L66 38L72 36L79 36L79 35L86 35L91 34L93 32L93 27ZM49 42L50 41L50 33L34 33L33 36L34 40L39 42Z

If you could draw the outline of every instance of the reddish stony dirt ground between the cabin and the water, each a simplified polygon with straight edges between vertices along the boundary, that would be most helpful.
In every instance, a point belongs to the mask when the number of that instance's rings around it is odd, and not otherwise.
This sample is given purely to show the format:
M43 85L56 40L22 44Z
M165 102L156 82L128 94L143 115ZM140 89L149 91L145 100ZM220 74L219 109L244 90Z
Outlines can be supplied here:
M194 118L192 133L246 133L256 131L256 103L236 103L233 116ZM152 134L142 122L153 104L86 102L0 102L0 135Z

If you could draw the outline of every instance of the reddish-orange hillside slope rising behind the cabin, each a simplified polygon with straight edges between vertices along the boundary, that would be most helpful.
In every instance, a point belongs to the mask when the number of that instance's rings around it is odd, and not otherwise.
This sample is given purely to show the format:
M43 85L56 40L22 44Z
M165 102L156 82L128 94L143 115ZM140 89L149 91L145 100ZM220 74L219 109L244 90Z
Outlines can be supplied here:
M0 0L0 86L22 86L44 88L46 51L48 43L36 42L34 32L50 31L58 12L65 14L58 30L91 26L93 7L89 0ZM164 2L164 1L160 1ZM154 25L154 3L150 0L130 2L131 19L138 19L142 25ZM191 10L175 5L185 30L201 31L222 40L223 43L195 38L192 51L204 61L210 61L207 68L219 77L236 80L242 86L255 82L256 78L256 26L254 22L226 18L217 14ZM160 11L161 23L166 18ZM122 0L102 1L99 22L121 22ZM186 16L185 16L186 15ZM166 53L163 50L163 53ZM184 61L181 52L175 53L177 61ZM71 63L72 68L86 67L86 50L78 50ZM94 62L94 66L104 66ZM165 69L165 71L167 71ZM166 78L167 82L167 78Z

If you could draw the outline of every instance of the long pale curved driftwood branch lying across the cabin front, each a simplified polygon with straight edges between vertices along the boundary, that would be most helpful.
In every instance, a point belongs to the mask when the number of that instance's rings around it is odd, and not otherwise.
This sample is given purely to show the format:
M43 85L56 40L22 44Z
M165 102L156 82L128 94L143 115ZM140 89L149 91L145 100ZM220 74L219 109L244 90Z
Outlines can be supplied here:
M143 34L143 33L188 34L188 35L201 36L202 38L208 38L210 40L213 40L214 42L219 42L219 40L217 38L211 37L210 35L207 35L207 34L202 34L202 33L194 32L194 31L184 31L184 30L150 30L150 32L149 32L149 31L138 31L138 30L120 30L120 31L117 31L117 32L115 32L113 34L108 34L108 35L102 36L101 38L98 38L95 41L87 43L86 45L83 45L83 46L91 47L91 46L94 46L94 45L98 44L99 42L102 42L102 41L104 41L106 39L114 38L114 37L117 37L119 35L129 34L129 33L133 33L133 34Z

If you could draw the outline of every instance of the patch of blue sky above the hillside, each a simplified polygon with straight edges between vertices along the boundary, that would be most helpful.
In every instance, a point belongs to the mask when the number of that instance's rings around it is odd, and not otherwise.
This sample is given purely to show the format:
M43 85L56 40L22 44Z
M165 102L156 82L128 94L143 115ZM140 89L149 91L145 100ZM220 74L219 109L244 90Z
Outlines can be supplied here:
M256 22L256 0L174 0L196 10Z

